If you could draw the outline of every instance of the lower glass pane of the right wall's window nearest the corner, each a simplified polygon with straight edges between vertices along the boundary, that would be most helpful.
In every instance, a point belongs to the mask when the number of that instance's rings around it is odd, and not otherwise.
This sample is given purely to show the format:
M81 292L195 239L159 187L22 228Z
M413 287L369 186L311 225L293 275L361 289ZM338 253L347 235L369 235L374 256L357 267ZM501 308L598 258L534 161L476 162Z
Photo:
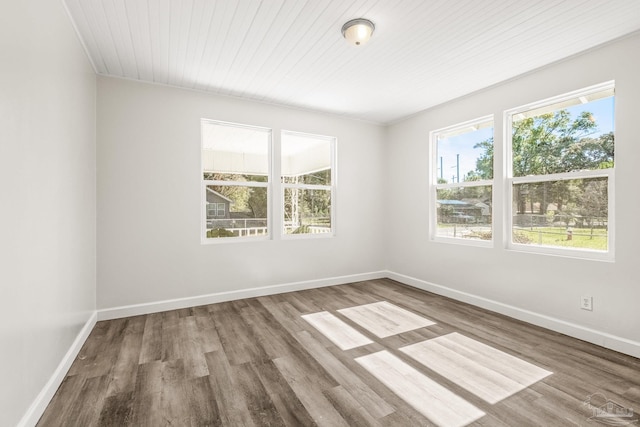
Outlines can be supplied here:
M437 190L438 237L491 240L490 185Z

